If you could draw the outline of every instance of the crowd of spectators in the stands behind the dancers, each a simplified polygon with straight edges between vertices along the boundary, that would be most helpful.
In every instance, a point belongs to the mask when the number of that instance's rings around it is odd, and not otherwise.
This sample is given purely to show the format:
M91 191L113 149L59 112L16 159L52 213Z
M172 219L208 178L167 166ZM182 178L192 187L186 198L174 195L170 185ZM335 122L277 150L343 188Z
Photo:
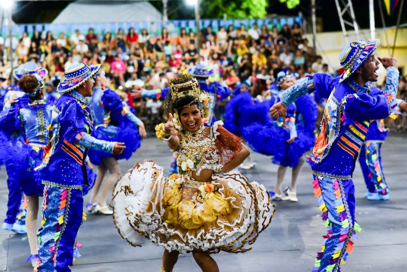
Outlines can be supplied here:
M166 28L160 35L133 28L126 32L119 29L114 35L110 32L97 35L92 28L86 34L76 30L69 37L65 33L54 37L51 32L38 31L29 37L24 32L15 47L14 67L35 61L47 68L47 80L55 83L72 64L101 64L111 88L125 92L123 97L138 109L146 101L133 99L132 91L164 88L168 78L198 63L214 69L216 75L211 80L221 81L231 90L243 82L249 83L254 97L269 95L276 71L281 69L296 72L300 77L315 72L336 75L316 55L298 23L292 27L230 25L221 26L216 32L208 26L199 35L197 39L193 31L186 29L170 35ZM10 72L6 59L0 59L3 64L0 73ZM406 96L405 80L400 80L401 96ZM401 128L404 123L405 120L399 120L395 125Z

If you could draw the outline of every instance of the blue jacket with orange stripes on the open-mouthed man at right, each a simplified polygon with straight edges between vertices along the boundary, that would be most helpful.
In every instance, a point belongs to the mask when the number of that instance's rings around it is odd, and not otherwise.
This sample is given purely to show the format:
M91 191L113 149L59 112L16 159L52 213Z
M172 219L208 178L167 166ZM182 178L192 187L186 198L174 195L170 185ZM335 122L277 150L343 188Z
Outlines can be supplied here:
M300 79L280 95L284 105L314 90L319 97L328 98L319 134L309 157L314 175L352 178L370 120L386 118L397 106L398 75L396 68L387 68L383 95L369 94L367 85L360 86L352 79L339 82L339 77L332 78L321 73Z

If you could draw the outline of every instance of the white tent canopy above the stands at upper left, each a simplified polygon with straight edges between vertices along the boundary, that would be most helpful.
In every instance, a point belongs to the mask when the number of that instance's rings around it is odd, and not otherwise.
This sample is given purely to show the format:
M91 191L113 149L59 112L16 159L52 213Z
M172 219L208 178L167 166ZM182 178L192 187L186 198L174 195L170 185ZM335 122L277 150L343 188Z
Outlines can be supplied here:
M76 1L52 23L162 21L161 13L144 1Z

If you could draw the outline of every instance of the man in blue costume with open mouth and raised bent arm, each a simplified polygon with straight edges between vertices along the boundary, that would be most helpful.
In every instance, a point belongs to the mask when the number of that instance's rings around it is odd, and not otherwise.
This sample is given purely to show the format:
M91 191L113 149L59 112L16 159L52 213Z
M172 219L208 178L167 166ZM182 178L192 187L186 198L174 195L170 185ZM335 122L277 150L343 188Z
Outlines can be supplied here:
M322 210L328 234L312 271L339 271L340 263L352 252L351 237L360 231L355 222L355 162L372 119L386 118L397 106L397 60L379 58L387 70L383 95L370 95L367 81L377 81L380 62L374 56L378 40L354 41L341 52L339 61L345 72L336 78L317 73L303 78L284 91L281 102L270 108L276 118L286 107L314 90L329 97L319 134L309 157L314 176L314 194Z

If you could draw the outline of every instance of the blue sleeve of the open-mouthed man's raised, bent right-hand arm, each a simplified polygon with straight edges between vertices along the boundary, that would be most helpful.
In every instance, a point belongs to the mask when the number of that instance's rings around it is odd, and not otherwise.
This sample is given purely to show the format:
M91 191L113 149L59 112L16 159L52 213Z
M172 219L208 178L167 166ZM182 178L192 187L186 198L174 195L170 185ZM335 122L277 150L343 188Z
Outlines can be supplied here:
M343 111L346 118L352 120L384 119L397 106L397 89L399 72L394 67L388 67L386 88L383 95L368 95L356 93L346 96Z

